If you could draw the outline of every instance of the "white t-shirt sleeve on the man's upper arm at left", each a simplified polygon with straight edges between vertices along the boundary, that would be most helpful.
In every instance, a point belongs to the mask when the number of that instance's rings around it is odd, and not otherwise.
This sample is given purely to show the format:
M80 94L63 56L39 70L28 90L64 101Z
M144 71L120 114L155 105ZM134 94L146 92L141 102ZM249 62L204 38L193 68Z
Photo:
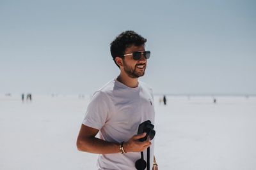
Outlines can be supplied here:
M83 124L100 130L106 123L109 114L109 98L104 92L95 92L86 110Z

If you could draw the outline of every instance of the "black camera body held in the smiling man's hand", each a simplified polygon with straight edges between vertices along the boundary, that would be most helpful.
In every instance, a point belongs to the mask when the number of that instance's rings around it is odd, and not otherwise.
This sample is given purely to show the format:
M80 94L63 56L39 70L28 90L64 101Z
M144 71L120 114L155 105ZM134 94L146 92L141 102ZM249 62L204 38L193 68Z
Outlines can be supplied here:
M139 125L138 134L146 132L147 135L144 138L139 139L139 141L147 140L149 136L152 140L155 137L156 131L154 131L154 125L151 124L150 120L147 120Z

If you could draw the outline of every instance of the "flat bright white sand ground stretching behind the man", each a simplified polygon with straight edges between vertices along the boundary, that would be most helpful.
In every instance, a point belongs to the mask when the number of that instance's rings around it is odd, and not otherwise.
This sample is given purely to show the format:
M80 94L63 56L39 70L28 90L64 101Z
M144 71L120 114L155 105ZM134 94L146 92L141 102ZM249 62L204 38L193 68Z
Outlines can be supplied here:
M0 169L96 169L76 150L89 97L0 96ZM256 98L168 97L156 108L159 169L256 169Z

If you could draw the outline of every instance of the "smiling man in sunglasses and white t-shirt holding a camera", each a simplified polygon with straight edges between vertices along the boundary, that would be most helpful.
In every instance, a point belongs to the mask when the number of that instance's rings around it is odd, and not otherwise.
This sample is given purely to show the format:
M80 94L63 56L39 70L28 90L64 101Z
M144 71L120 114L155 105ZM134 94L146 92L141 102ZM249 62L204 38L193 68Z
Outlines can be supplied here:
M145 120L154 124L153 93L145 83L138 81L147 67L150 52L145 51L143 38L134 31L122 32L111 43L111 55L120 68L120 74L95 92L88 105L78 138L77 149L99 153L99 169L136 169L136 160L143 152L147 157L150 146L150 169L157 169L154 158L154 139L137 134ZM100 139L95 136L100 132Z

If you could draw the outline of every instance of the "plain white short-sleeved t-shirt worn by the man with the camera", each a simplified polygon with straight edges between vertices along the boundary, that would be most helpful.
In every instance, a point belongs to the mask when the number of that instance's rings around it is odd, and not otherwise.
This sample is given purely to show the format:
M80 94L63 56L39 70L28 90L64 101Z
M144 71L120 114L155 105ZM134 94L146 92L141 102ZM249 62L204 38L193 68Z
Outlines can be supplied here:
M121 143L137 134L142 122L150 120L154 124L154 118L152 89L141 81L138 87L131 88L113 80L93 94L83 124L99 129L100 139ZM151 142L150 169L153 165L154 139ZM140 152L103 154L99 155L97 167L100 170L135 170L135 162L140 158ZM144 151L144 160L147 161L147 150Z

